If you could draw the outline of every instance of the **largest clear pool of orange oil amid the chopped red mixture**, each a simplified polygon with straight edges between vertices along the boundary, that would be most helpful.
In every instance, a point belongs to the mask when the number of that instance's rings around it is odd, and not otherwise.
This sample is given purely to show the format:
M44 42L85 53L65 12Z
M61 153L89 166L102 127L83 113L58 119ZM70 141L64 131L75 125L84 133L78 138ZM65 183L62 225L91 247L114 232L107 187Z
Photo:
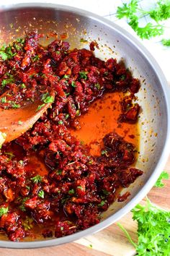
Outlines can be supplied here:
M138 148L138 123L120 123L123 93L107 93L101 99L91 103L88 113L80 116L81 129L71 130L71 135L90 145L92 155L100 155L104 135L115 131Z

